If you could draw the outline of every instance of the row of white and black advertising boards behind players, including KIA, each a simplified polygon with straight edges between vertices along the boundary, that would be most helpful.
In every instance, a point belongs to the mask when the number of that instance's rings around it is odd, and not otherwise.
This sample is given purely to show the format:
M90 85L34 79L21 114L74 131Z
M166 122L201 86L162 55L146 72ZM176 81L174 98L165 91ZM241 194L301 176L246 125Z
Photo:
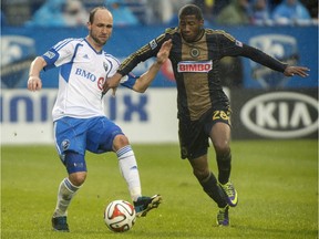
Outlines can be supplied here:
M318 138L318 93L303 91L229 90L233 138ZM31 93L2 90L1 143L53 143L51 110L56 90ZM119 89L104 97L105 114L132 143L177 143L176 90L150 89L137 94Z

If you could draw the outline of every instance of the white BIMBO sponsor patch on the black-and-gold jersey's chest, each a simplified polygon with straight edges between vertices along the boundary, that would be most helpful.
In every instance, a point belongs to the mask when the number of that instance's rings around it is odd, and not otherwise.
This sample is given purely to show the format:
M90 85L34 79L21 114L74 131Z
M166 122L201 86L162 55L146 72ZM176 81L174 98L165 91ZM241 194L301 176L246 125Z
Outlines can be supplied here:
M213 61L182 61L177 64L178 72L208 73L213 69Z

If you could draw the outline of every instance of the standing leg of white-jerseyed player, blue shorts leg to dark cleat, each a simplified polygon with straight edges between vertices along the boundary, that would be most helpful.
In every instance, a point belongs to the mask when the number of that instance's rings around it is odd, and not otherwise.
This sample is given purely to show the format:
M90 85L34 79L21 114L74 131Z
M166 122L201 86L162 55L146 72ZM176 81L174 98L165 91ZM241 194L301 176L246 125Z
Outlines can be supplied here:
M58 189L56 206L52 216L52 227L56 231L69 231L68 208L86 178L84 131L85 123L79 119L62 118L54 123L55 146L69 174Z

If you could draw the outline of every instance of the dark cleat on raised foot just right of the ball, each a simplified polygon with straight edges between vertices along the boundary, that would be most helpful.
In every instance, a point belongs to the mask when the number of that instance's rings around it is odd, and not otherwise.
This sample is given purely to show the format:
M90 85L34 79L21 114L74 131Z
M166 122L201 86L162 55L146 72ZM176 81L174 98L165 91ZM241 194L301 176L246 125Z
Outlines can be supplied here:
M136 217L145 217L150 210L152 210L153 208L157 208L161 202L161 195L154 195L153 197L138 197L137 201L133 202Z

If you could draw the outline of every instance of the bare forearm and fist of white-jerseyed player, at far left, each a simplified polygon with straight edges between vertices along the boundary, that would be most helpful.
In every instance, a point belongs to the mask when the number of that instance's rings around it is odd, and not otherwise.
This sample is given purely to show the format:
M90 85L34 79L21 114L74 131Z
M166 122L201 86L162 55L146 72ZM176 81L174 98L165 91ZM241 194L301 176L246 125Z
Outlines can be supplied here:
M40 79L40 72L47 65L47 62L42 56L35 58L29 70L28 90L40 91L42 89L42 82Z

